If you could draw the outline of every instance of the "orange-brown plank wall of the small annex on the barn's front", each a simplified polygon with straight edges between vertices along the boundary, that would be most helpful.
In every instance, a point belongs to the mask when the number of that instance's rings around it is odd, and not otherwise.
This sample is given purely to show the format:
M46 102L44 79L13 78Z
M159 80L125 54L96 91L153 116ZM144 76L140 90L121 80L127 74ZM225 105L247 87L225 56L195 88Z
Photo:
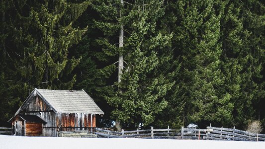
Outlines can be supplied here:
M26 122L26 136L42 136L42 123Z

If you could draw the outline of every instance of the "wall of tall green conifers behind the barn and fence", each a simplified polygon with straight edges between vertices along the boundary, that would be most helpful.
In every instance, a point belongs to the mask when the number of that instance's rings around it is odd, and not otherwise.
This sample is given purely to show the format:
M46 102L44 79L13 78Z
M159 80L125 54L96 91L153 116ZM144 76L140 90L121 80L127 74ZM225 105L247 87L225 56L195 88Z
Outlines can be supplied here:
M0 13L0 125L35 87L85 89L101 126L265 120L263 0L2 0Z

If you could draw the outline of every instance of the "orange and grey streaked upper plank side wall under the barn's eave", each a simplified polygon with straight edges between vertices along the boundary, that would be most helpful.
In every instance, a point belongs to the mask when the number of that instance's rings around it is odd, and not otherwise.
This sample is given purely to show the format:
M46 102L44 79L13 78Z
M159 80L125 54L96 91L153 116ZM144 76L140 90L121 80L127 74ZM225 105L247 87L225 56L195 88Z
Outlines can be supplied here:
M91 119L91 114L58 113L56 114L56 126L58 128L61 126L60 131L88 130L90 127L96 127L95 114Z

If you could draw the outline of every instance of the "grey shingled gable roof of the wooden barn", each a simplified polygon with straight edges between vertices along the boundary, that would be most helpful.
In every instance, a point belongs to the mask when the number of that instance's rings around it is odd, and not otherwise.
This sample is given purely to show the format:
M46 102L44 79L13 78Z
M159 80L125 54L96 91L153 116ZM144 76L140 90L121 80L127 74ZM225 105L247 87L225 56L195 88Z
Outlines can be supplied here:
M18 114L35 95L39 95L55 112L104 114L84 90L50 90L37 88L31 92L16 114Z

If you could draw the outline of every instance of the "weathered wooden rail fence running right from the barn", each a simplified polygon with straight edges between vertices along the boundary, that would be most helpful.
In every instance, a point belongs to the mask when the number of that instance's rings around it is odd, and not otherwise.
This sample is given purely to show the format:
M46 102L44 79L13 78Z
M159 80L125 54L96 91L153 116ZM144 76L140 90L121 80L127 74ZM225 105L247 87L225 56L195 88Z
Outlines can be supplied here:
M207 129L183 128L154 129L115 132L96 128L95 134L103 138L146 138L146 139L193 139L227 141L265 141L264 134L253 134L235 128L207 127Z

